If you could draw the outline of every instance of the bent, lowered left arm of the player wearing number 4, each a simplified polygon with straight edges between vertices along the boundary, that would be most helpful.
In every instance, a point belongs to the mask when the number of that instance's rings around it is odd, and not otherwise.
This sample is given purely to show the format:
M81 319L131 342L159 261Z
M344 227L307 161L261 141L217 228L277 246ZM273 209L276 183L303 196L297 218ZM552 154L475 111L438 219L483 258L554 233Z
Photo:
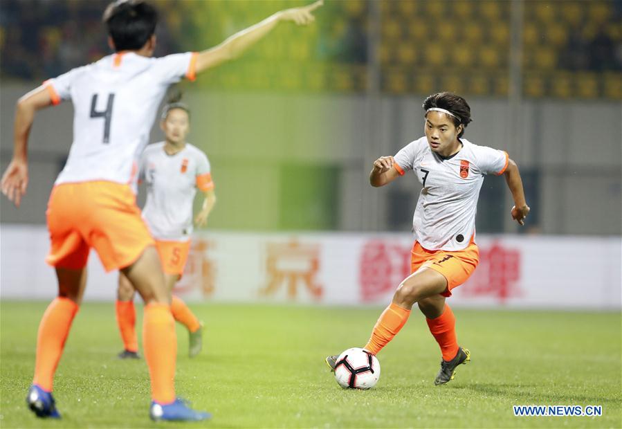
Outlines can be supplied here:
M52 104L46 86L33 89L19 100L15 108L13 131L13 158L2 176L2 193L19 207L28 187L28 135L35 120L35 112Z

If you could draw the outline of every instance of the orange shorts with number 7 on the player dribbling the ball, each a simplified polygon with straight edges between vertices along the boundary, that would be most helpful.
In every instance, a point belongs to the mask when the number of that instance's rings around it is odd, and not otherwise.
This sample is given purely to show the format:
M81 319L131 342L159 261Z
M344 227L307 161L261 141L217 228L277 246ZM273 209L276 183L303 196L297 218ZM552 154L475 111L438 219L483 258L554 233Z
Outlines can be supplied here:
M441 295L450 297L451 290L460 286L475 271L479 263L477 244L470 242L467 248L450 252L448 250L426 250L417 241L410 252L410 272L419 268L431 268L447 279L447 290Z

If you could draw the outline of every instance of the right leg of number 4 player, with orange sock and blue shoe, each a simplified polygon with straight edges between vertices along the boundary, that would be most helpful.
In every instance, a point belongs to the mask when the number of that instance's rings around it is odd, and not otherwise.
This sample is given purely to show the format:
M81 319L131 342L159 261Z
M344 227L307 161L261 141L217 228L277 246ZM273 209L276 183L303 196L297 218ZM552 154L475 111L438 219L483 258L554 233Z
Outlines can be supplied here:
M122 271L145 301L143 347L152 382L150 416L154 420L209 419L209 413L191 410L175 398L175 322L156 248L147 247L134 264Z

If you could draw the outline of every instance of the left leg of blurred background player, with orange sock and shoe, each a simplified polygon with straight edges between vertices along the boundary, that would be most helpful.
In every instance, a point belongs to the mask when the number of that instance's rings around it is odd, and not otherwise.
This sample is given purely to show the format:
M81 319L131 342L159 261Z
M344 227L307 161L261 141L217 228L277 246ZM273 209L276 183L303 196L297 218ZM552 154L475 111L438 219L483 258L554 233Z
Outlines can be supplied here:
M136 309L134 308L136 289L127 276L119 273L117 302L115 304L117 325L123 341L123 351L118 354L120 359L139 359L138 336L136 335Z

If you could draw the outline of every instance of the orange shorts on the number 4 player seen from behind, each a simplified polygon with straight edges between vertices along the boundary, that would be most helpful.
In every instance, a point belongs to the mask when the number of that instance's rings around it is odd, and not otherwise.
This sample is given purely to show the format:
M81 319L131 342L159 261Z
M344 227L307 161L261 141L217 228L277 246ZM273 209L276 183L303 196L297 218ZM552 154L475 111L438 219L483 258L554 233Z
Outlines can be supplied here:
M154 244L129 185L109 181L55 185L46 215L52 241L46 262L52 266L84 268L95 248L106 271L118 270Z

